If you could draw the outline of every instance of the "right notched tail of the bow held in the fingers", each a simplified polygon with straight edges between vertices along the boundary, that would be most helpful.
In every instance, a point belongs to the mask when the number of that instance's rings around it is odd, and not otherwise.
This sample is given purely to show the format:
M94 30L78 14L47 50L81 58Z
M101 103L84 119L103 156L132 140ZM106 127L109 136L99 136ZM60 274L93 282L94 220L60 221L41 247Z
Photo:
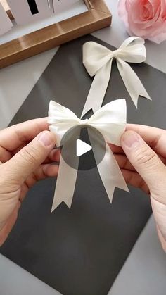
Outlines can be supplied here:
M113 201L115 187L118 187L119 189L124 189L126 192L129 192L119 165L117 164L117 161L113 156L113 152L110 150L110 146L108 146L108 144L106 144L105 156L97 167L103 185L108 194L110 203L112 203Z

